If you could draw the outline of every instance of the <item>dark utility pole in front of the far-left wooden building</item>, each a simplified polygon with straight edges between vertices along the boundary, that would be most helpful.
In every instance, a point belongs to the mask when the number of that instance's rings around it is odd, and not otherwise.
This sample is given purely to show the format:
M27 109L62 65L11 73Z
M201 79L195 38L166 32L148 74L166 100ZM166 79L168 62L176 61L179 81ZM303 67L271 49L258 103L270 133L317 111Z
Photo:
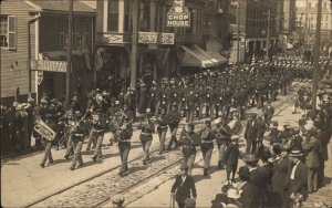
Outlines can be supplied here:
M70 105L71 93L71 71L72 71L72 24L73 24L74 1L70 0L70 10L68 17L68 45L66 45L66 73L65 73L65 107Z

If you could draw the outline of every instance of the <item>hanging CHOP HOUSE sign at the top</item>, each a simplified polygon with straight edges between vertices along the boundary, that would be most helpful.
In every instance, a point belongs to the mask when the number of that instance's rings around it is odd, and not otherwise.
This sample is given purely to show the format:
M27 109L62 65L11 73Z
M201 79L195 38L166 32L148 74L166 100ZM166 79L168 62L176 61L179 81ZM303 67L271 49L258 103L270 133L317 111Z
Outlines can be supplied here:
M167 27L190 27L190 12L185 7L185 0L174 0L167 12Z

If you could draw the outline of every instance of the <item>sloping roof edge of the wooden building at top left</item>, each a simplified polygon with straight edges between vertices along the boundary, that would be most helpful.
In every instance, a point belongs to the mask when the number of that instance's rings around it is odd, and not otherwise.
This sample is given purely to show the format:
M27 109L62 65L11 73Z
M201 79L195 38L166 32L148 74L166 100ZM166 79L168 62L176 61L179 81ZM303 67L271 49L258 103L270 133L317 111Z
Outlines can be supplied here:
M95 13L96 11L81 1L73 0L74 12ZM34 7L38 11L61 11L69 12L70 0L29 0L27 3Z

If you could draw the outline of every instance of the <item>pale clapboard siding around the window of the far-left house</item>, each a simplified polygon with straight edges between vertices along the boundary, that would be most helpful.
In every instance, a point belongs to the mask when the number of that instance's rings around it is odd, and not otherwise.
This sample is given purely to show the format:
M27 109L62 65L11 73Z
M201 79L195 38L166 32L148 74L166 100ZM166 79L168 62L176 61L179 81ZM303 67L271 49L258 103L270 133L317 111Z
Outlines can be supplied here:
M10 14L17 18L17 50L10 51L1 48L1 98L13 96L17 87L20 94L29 93L28 72L28 21L33 17L28 11L33 8L23 1L2 1L1 14ZM31 25L31 58L34 59L35 24ZM15 64L18 63L18 64ZM11 64L13 70L11 71ZM32 73L32 92L34 89L34 73Z

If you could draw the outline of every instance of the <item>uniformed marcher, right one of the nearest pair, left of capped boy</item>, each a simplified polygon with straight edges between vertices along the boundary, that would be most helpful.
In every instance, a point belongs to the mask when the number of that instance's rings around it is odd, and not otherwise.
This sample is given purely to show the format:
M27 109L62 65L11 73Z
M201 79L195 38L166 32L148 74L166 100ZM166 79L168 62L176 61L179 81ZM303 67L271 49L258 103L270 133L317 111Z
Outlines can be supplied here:
M204 158L204 176L208 176L210 160L214 150L215 132L211 128L211 121L205 121L205 127L200 131L200 149Z

